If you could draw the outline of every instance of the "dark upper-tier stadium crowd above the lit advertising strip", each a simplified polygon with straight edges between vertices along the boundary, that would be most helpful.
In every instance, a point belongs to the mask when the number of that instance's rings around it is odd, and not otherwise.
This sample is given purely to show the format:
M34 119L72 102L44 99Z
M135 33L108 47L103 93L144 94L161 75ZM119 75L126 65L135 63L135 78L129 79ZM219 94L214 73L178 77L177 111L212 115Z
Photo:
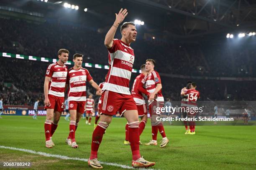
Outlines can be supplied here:
M100 33L96 28L48 22L36 24L14 19L0 19L0 22L1 52L56 58L56 52L66 48L71 54L84 54L86 62L108 65L108 51L103 43L105 32ZM138 32L133 49L136 56L133 68L137 69L146 59L153 58L161 66L158 67L159 72L170 74L248 77L256 72L252 65L256 62L253 57L256 49L253 47L239 46L230 50L222 44L211 48L200 44L175 45L157 38L145 40ZM71 59L72 56L69 57Z

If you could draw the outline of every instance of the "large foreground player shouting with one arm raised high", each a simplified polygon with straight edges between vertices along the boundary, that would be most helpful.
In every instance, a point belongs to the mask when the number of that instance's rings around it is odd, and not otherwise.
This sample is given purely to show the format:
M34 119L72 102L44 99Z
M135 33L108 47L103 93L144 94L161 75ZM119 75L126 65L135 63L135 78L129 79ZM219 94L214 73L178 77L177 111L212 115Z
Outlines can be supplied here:
M121 26L121 40L113 39L118 25L123 22L128 14L126 9L121 9L115 14L115 22L108 31L104 44L108 48L108 61L110 68L102 88L100 122L92 134L91 155L88 164L93 168L102 168L97 160L97 153L103 134L108 128L112 116L118 111L124 115L129 124L129 142L132 150L133 167L150 167L155 165L141 158L139 150L138 111L136 103L129 90L129 82L134 62L131 42L136 40L137 30L134 23L123 23Z

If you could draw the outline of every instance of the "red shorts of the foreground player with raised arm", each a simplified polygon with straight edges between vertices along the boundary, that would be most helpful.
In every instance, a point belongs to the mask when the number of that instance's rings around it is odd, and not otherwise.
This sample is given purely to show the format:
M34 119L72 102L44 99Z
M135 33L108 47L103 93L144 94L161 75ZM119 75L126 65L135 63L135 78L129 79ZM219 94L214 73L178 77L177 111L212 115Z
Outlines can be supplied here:
M104 90L101 94L100 100L100 114L113 116L119 111L120 115L123 115L126 110L137 110L137 106L132 95Z

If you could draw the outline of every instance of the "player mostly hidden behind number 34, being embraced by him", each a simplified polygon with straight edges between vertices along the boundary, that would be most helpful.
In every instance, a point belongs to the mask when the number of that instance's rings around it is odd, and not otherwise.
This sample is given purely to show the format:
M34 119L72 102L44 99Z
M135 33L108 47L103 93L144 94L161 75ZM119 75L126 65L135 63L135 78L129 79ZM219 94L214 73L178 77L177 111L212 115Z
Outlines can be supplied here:
M187 82L187 86L186 87L183 87L181 92L180 92L180 96L182 98L182 102L181 102L181 107L182 107L182 116L185 118L187 117L187 112L186 112L186 107L187 107L187 102L188 102L188 98L187 98L187 95L183 95L183 93L187 92L187 90L190 89L191 87L191 81L188 81ZM189 134L189 129L187 128L187 121L183 121L184 122L184 126L186 128L186 132L185 132L185 135Z

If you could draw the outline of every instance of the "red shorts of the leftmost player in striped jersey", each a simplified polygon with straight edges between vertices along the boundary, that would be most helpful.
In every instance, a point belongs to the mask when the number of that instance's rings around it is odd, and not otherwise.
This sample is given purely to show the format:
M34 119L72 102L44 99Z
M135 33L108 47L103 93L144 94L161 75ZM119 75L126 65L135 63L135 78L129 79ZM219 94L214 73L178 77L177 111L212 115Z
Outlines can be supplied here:
M48 95L48 98L50 100L49 106L44 106L44 109L54 109L54 111L57 112L63 112L64 111L64 97L58 97L55 95Z

